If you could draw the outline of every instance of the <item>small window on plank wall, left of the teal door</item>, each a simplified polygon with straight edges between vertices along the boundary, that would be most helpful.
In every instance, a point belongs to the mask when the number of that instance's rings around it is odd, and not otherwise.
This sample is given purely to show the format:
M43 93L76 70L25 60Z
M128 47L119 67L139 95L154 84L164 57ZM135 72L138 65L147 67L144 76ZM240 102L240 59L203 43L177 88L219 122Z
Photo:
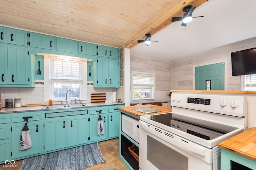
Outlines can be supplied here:
M150 73L132 73L132 99L146 100L154 98L155 75Z

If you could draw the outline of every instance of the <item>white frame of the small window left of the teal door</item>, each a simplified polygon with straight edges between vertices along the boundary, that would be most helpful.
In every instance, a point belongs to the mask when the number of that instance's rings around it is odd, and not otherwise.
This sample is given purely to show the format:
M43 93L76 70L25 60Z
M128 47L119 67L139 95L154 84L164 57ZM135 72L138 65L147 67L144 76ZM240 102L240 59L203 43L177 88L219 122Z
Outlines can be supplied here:
M153 77L153 85L152 85L152 92L151 92L151 98L133 98L133 90L134 90L134 82L133 82L133 77L134 75L138 76L138 75L141 75L141 76L150 76L150 77ZM132 72L132 93L131 93L131 98L132 98L132 101L145 101L145 100L154 100L154 96L155 96L155 79L156 79L156 75L154 73L149 73L149 72L137 72L137 71L133 71ZM138 87L138 85L137 85ZM141 87L145 87L145 86L141 86Z

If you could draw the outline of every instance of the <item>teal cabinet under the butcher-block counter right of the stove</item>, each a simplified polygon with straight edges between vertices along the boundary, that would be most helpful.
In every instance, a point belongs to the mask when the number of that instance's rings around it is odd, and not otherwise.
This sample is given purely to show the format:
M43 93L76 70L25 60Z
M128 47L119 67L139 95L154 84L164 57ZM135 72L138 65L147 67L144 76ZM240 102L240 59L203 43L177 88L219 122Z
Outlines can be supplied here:
M256 160L221 148L221 170L256 170Z

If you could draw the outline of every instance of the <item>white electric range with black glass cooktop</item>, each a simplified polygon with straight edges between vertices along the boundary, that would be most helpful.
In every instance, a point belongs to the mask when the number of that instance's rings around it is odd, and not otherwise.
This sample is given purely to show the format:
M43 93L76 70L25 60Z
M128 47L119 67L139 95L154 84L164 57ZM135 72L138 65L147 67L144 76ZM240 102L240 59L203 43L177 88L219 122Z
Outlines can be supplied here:
M140 117L141 170L220 170L218 143L244 131L246 98L173 92L172 113Z

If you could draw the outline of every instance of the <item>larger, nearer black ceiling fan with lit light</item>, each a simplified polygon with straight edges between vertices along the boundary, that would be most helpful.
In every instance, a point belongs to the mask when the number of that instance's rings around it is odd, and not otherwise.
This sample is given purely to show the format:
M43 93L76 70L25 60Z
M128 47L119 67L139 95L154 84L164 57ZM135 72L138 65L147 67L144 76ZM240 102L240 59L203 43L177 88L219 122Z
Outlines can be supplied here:
M192 12L194 11L195 8L196 6L193 7L192 5L185 6L183 8L183 12L185 12L183 17L172 17L172 22L182 21L181 25L186 27L187 23L192 21L193 18L204 17L204 16L193 17Z

